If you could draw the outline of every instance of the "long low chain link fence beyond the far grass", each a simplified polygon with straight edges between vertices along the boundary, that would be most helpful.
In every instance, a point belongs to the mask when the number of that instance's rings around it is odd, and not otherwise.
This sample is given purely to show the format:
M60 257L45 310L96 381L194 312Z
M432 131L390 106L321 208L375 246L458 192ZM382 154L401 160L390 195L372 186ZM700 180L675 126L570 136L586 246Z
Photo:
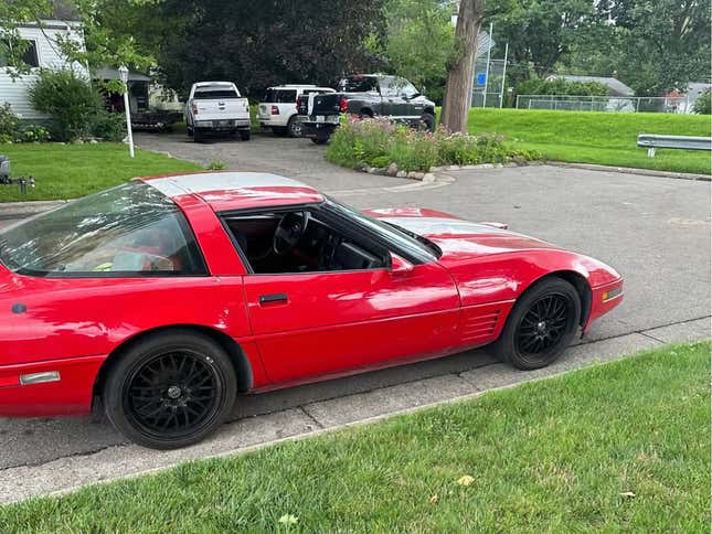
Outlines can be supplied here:
M559 111L691 114L694 102L680 97L517 95L518 109Z

